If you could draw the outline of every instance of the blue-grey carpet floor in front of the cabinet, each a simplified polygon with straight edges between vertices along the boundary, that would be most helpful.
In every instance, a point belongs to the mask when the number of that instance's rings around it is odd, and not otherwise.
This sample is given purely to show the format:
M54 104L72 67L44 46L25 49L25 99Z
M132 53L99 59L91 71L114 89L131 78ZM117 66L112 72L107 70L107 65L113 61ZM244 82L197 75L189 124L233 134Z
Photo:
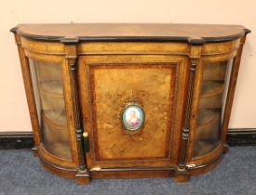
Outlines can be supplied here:
M232 147L222 163L208 174L187 183L172 178L93 179L77 186L72 179L53 176L30 150L0 150L0 195L256 195L256 147Z

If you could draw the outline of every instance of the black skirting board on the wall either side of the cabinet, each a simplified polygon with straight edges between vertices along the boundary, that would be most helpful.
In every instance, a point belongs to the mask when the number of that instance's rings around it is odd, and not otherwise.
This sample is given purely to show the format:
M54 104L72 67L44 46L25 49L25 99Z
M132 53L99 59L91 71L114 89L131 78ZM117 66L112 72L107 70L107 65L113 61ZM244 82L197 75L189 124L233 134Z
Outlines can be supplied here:
M256 128L229 129L229 146L256 146ZM33 132L0 132L0 150L33 149Z

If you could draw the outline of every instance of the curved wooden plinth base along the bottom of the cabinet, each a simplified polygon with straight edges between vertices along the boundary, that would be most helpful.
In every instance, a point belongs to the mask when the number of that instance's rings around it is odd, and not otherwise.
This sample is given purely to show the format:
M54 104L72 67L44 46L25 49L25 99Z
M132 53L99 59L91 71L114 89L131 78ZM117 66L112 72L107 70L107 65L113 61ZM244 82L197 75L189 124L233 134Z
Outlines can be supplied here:
M223 150L224 153L224 150ZM103 169L86 169L77 171L75 168L63 168L53 163L47 162L40 152L34 149L34 156L39 157L40 163L45 169L56 175L65 178L73 178L78 185L88 185L90 178L159 178L173 177L177 183L188 182L190 176L198 176L214 169L221 161L222 154L210 161L209 163L198 164L194 167L179 170L178 167L127 167L127 168L103 168Z

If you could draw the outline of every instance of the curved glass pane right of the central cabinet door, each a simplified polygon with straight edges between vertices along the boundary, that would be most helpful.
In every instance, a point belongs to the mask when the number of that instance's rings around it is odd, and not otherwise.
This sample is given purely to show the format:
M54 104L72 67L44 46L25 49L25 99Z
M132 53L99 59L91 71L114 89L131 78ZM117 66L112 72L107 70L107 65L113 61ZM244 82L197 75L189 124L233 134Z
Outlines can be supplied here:
M194 157L214 150L221 140L222 110L232 63L233 59L204 64L195 129Z

